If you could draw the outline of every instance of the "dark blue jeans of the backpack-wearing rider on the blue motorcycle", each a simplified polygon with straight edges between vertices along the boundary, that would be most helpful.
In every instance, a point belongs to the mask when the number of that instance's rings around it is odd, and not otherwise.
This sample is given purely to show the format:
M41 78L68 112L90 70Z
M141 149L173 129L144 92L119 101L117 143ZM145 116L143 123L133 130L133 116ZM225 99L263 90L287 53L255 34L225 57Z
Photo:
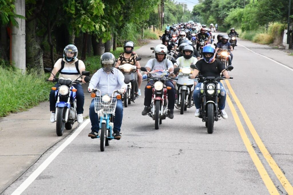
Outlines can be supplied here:
M56 83L54 87L59 87L59 83ZM77 114L82 114L84 113L84 89L82 89L81 84L75 84L73 85L75 89L77 89L76 92L76 113ZM51 90L50 92L50 111L56 110L56 102L57 100L55 99L55 90Z

